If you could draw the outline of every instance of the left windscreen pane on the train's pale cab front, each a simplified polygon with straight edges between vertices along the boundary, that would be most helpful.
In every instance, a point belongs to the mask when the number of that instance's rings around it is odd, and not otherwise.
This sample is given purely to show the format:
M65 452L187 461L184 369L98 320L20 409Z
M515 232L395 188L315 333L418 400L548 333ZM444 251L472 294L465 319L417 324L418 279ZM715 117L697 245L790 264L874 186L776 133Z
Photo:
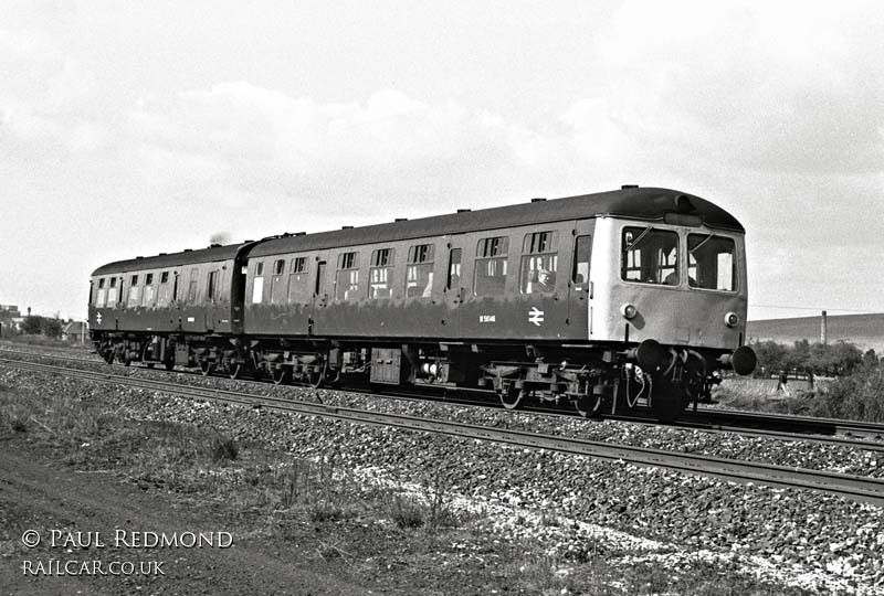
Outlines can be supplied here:
M678 234L667 230L624 227L620 277L627 281L678 285Z

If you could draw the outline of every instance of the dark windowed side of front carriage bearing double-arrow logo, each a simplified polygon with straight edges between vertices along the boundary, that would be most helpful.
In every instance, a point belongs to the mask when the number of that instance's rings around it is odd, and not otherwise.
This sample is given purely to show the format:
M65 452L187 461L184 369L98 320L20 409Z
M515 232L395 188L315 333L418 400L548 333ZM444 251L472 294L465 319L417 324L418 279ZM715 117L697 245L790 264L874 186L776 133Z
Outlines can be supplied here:
M589 252L578 265L575 251L578 237L591 238L592 222L255 257L248 267L245 332L587 340Z

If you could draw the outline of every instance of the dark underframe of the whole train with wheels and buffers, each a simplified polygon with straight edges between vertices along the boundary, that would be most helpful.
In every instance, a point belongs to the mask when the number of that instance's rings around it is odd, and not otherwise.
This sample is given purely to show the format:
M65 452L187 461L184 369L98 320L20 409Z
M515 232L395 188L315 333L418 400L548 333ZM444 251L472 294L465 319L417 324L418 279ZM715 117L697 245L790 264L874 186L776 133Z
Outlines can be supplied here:
M252 338L95 332L108 363L199 368L202 374L267 377L313 387L486 390L508 409L573 407L582 416L650 411L660 421L708 402L722 370L747 374L749 348L734 352L641 344L469 343L370 339Z

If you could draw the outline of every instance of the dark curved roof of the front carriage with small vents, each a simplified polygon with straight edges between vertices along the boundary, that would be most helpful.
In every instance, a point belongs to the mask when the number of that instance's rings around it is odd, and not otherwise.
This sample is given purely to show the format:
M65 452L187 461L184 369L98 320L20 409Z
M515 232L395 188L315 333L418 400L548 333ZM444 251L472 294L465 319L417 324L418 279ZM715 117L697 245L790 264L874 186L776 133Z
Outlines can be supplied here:
M733 215L699 196L670 189L624 188L596 194L532 201L365 227L282 236L262 242L250 252L249 256L260 257L338 246L463 234L601 215L662 222L664 213L667 212L699 215L708 227L745 232L743 225Z

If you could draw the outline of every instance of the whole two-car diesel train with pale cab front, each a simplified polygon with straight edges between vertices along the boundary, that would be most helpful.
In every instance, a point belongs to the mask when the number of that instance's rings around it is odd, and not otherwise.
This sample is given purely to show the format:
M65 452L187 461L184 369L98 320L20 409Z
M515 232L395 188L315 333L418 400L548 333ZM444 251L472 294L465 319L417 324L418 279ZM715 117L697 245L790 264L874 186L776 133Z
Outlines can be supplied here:
M755 368L744 238L709 201L634 187L283 234L99 267L91 333L108 362L669 421Z

